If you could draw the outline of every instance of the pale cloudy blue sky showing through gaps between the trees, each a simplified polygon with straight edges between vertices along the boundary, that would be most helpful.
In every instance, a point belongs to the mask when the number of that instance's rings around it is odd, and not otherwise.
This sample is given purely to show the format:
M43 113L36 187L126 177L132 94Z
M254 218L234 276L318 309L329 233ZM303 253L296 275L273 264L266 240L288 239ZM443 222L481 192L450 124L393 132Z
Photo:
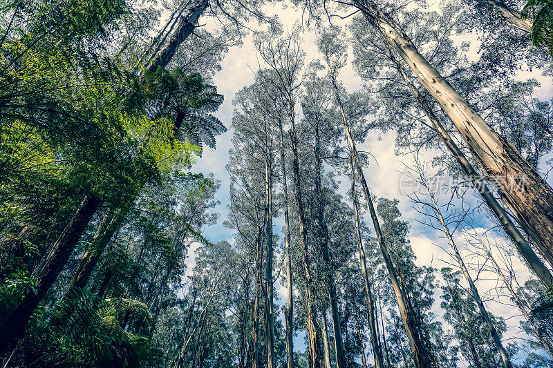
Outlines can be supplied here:
M436 6L436 3L431 4ZM294 9L292 6L283 7L282 3L277 6L271 6L268 8L268 12L271 14L279 14L279 19L284 24L285 29L291 29L293 24L301 19L301 11ZM314 32L306 32L303 34L303 50L306 52L306 61L310 59L320 58L315 47L316 36ZM466 38L465 38L466 40ZM476 36L471 40L472 46L469 53L472 57L476 57L477 42ZM350 58L351 59L351 58ZM306 64L307 64L306 62ZM229 174L225 170L225 165L228 163L229 155L228 151L231 148L231 138L233 134L232 130L232 112L234 106L232 100L234 95L241 90L241 88L252 84L254 81L254 73L259 69L260 61L256 56L254 45L252 43L251 36L245 37L244 43L240 47L234 47L229 50L225 59L221 63L221 71L217 72L214 76L214 84L218 88L218 93L221 93L225 97L225 101L216 113L216 117L221 119L221 122L229 128L227 133L217 137L216 150L212 148L204 148L203 156L198 159L198 163L194 166L193 171L198 173L213 173L216 180L221 181L221 188L216 193L216 200L221 204L216 206L212 211L221 215L218 223L209 226L204 229L205 237L212 241L218 242L221 240L227 240L232 242L233 231L226 229L223 226L223 221L226 220L229 204ZM348 64L344 68L340 75L341 81L344 87L348 91L353 91L362 86L361 79L355 74L353 68ZM541 81L542 86L536 90L536 95L545 100L551 100L553 95L553 86L550 78L546 78L540 75L538 70L534 72L519 72L519 79L527 79L528 77L534 77ZM370 119L370 117L369 117ZM373 131L369 134L368 139L362 144L359 149L371 153L373 159L368 167L364 169L364 173L368 180L371 191L378 197L387 197L389 199L397 198L400 200L400 211L402 211L402 220L407 220L411 224L411 231L409 240L413 251L417 256L417 264L430 265L440 269L448 265L447 262L453 263L453 259L447 255L441 248L448 248L446 240L440 237L438 231L435 231L429 226L425 226L417 222L420 215L413 209L413 204L409 200L402 190L400 180L402 179L402 173L405 171L406 164L411 164L413 157L411 155L396 155L394 148L395 133L393 131L386 134L382 134L379 131ZM424 157L430 158L433 155L432 152L427 153ZM341 191L346 193L349 186L348 180L342 178ZM365 216L365 222L371 224L370 218ZM476 218L478 227L474 230L479 236L486 233L487 229L494 226L493 222L487 217L485 213L480 213ZM372 227L372 226L370 226ZM274 231L281 231L282 221L275 220ZM487 233L492 241L498 241L503 244L503 238L500 235L491 232ZM456 233L456 242L462 246L465 243L465 237L462 233ZM468 256L468 254L467 254ZM190 265L194 264L194 249L189 251ZM191 267L189 267L191 269ZM525 280L528 277L528 272L523 265L518 262L517 269L520 271L521 280ZM482 291L483 297L487 307L492 313L507 318L507 325L509 329L506 333L506 338L524 337L520 334L516 334L516 329L513 327L518 326L520 320L518 310L505 304L505 300L497 298L493 295L491 290L496 287L497 281L494 278L490 278L489 275L482 273L480 280L477 282L477 286ZM279 289L277 287L277 289ZM284 289L281 288L281 303L285 302ZM438 296L437 296L438 298ZM439 299L439 298L438 298ZM439 307L439 300L435 303L435 313L441 314L442 311ZM302 336L297 338L296 346L303 345ZM370 350L370 349L368 349Z

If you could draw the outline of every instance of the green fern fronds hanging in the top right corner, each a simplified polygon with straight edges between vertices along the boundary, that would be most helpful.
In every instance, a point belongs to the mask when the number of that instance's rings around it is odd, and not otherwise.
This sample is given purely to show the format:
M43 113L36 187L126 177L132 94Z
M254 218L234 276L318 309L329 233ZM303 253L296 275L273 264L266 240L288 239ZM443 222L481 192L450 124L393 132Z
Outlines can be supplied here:
M553 56L553 1L529 0L521 12L523 19L534 19L532 23L532 43L541 46L545 43Z

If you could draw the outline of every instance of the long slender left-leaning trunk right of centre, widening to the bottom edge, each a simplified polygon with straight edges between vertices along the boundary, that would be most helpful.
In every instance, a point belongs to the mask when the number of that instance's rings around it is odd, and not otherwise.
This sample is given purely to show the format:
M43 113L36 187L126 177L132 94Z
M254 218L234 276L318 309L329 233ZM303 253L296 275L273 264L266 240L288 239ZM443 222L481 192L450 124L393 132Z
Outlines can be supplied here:
M332 85L335 90L335 97L338 102L339 108L341 110L341 117L344 127L346 128L346 135L348 137L348 145L350 148L350 153L353 157L353 164L355 165L357 175L359 175L359 181L361 182L365 200L368 206L368 211L371 213L371 219L373 220L373 226L375 228L375 233L377 240L380 246L380 251L382 253L382 258L384 258L384 263L386 264L386 269L388 269L388 274L390 275L390 282L392 284L393 290L395 292L395 298L397 300L398 307L400 309L400 316L405 325L405 330L407 337L409 338L409 345L411 346L411 351L413 353L413 360L415 361L415 367L426 368L432 365L431 352L428 351L427 347L424 345L421 339L420 331L418 331L417 323L415 320L415 315L411 309L411 305L406 302L403 291L400 287L400 282L397 278L397 273L393 265L392 259L388 252L388 246L382 237L382 231L380 231L380 224L378 217L376 215L375 206L373 205L373 198L371 197L371 192L368 190L368 186L365 180L365 175L363 173L363 168L359 162L359 156L357 155L357 148L355 148L355 141L350 132L350 127L346 119L346 114L344 113L344 107L341 103L341 98L338 92L338 86L335 78L332 78Z

